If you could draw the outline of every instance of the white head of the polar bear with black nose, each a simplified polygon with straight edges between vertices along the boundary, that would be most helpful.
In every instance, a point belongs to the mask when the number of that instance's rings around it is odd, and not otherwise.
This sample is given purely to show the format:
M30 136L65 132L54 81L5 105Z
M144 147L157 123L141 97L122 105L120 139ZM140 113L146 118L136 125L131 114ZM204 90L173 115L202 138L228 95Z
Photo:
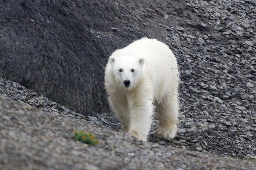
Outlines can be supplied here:
M134 58L132 56L109 57L114 79L122 87L132 88L143 75L143 58Z

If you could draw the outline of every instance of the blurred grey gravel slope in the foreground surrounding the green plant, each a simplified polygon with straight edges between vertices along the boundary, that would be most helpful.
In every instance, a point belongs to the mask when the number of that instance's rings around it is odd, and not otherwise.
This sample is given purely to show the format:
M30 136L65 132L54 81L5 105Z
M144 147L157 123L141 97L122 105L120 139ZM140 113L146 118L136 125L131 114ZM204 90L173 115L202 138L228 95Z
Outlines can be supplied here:
M145 143L129 134L64 117L0 96L1 169L255 169L252 159L234 159ZM89 146L73 130L95 134Z

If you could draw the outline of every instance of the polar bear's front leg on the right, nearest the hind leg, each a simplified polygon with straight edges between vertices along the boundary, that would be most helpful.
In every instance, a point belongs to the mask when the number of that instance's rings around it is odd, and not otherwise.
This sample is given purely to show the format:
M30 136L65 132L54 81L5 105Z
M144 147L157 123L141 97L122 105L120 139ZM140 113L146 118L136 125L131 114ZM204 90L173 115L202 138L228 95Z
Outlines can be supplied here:
M130 125L128 133L141 141L147 141L153 115L152 99L138 98L136 95L128 97L130 108Z

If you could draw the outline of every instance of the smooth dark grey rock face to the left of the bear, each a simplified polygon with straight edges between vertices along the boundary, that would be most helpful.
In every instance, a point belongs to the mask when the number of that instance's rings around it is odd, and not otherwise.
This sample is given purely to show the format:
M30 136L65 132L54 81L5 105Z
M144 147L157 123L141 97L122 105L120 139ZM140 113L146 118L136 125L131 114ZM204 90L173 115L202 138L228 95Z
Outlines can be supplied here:
M1 1L0 76L75 112L106 112L108 56L145 35L124 27L136 25L124 10L109 1Z

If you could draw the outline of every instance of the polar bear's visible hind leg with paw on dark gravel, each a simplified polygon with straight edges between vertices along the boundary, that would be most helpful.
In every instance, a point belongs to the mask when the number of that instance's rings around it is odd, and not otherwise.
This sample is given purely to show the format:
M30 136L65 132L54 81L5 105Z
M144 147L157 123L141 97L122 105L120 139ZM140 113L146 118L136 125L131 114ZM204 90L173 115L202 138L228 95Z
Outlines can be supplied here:
M173 139L177 133L178 95L166 96L156 104L159 128L155 134L159 138Z

